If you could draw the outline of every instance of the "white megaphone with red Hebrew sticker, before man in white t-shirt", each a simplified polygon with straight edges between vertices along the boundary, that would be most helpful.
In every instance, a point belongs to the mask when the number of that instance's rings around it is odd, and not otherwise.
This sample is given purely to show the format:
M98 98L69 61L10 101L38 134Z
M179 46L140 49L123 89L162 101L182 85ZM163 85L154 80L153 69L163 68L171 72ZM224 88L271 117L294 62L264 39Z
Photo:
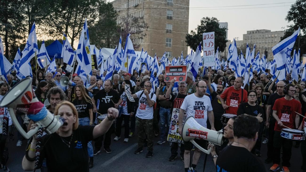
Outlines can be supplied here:
M195 118L189 117L183 125L182 138L184 142L190 141L198 149L204 153L210 154L211 148L208 150L202 148L193 139L198 138L202 140L207 140L210 144L217 144L221 146L223 144L223 133L222 130L214 131L207 129L196 122Z

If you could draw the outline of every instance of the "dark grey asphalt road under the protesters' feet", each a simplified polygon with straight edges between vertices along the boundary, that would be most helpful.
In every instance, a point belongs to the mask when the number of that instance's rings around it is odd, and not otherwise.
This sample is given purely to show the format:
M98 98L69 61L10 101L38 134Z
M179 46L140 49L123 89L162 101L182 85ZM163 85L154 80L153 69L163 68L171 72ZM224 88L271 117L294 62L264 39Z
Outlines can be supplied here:
M122 129L124 130L124 129ZM170 162L168 159L171 155L169 143L165 143L162 145L156 144L159 140L159 137L154 138L154 151L153 156L151 158L146 158L147 154L146 148L140 154L134 154L134 151L137 149L137 137L136 135L130 138L128 143L124 143L123 132L121 132L121 139L118 141L112 140L111 150L112 153L108 154L101 149L101 152L98 155L94 156L94 167L90 169L91 172L94 171L174 171L174 172L183 172L184 171L184 163L181 160L178 150L177 159ZM13 141L9 141L7 146L9 148L9 160L7 162L7 166L13 172L15 171L23 171L21 167L21 161L24 156L24 151L26 147L26 140L23 140L23 144L21 147L16 147L17 143L17 132L14 134ZM112 135L112 139L115 135ZM293 144L295 145L295 144ZM262 144L262 150L260 157L262 161L266 158L267 145ZM203 171L203 162L204 162L205 154L203 153L200 157L199 163L196 167L197 171ZM291 167L289 170L292 172L299 172L301 163L302 163L302 155L300 153L300 148L292 148L292 156L291 156ZM272 164L265 164L266 170L269 171L269 168ZM37 170L40 171L40 170ZM205 167L206 172L215 171L215 166L211 155L207 156L207 163ZM280 171L280 170L279 170Z

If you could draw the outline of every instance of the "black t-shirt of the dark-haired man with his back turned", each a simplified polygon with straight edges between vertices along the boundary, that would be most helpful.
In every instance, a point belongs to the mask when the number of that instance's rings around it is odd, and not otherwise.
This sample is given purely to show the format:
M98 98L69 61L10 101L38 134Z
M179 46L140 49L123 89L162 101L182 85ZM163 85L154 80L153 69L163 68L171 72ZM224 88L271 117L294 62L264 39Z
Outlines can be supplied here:
M246 148L229 145L218 155L216 171L265 172L263 163Z

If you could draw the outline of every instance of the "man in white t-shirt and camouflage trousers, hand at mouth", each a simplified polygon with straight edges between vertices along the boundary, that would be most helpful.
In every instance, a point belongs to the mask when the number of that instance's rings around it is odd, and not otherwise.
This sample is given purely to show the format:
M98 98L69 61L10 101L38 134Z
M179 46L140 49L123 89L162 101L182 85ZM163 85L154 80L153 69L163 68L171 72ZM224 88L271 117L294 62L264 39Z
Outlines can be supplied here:
M156 102L156 95L150 92L152 83L146 81L144 83L144 91L139 91L133 94L133 98L139 99L138 109L136 111L136 129L138 131L138 148L134 154L139 154L143 151L144 133L147 136L147 158L153 156L153 106Z

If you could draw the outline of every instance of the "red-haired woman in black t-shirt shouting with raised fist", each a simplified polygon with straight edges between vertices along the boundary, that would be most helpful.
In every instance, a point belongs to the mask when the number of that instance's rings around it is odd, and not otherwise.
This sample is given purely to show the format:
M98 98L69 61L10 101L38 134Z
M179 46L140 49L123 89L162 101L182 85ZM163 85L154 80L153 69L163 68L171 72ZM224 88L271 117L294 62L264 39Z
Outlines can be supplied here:
M114 119L118 117L118 110L109 108L107 119L99 125L79 126L76 108L67 101L56 107L54 115L60 115L64 119L64 124L56 133L42 137L43 147L37 168L46 158L48 171L89 171L87 144L107 132ZM35 124L32 124L32 128L34 127ZM22 160L24 170L35 168L35 146L36 137L33 136Z

